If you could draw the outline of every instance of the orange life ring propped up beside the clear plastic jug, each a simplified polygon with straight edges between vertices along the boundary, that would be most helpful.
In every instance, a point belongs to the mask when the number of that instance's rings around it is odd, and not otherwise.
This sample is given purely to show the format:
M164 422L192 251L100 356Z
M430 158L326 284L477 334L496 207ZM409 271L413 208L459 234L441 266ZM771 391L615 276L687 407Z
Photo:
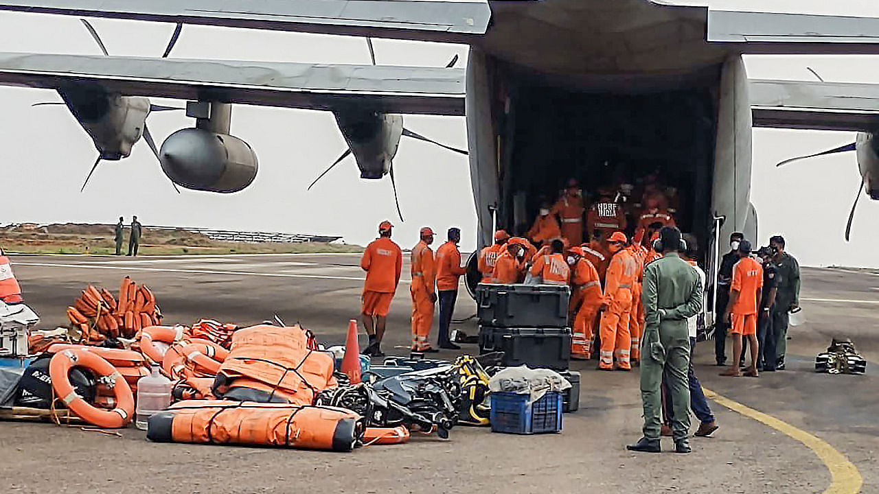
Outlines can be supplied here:
M100 376L98 381L113 389L116 408L101 410L77 395L68 378L68 373L73 367L85 367L98 374ZM49 361L49 377L52 379L52 389L55 394L61 396L62 402L86 422L107 428L124 427L131 422L134 416L134 395L131 393L131 388L116 367L97 353L82 349L55 353Z

